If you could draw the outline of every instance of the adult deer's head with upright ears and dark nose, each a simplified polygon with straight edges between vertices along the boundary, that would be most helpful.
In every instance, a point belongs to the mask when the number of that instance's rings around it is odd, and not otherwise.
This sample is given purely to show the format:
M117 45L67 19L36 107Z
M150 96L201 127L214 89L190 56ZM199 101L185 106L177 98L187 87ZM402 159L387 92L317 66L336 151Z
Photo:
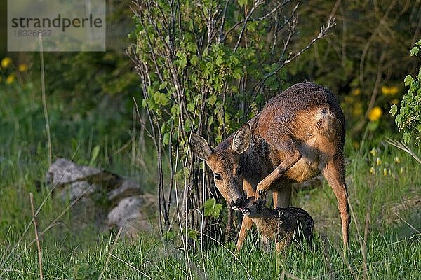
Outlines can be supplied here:
M220 145L215 150L203 137L192 134L191 148L195 155L206 161L212 169L213 181L221 195L234 210L243 204L243 168L239 164L240 154L250 145L250 125L241 125L229 145ZM227 140L226 140L227 141Z

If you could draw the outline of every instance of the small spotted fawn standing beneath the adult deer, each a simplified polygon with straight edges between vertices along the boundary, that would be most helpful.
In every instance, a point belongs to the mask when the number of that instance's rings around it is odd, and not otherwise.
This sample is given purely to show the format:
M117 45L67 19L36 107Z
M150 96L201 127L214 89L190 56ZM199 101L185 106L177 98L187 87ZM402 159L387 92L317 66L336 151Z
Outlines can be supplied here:
M266 245L268 241L275 241L278 253L285 253L293 241L300 243L306 240L310 246L312 244L314 221L302 208L269 209L262 205L262 209L259 209L255 198L248 197L241 211L253 220Z

